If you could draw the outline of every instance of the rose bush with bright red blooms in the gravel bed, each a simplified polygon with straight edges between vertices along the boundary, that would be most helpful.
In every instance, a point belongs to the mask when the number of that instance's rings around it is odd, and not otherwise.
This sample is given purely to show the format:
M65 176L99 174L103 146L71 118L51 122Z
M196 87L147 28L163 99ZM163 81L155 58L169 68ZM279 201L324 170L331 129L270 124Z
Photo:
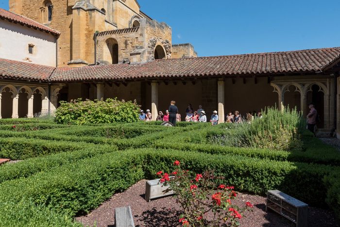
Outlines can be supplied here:
M194 174L182 170L178 160L173 165L175 170L171 174L159 171L156 175L162 177L160 182L164 186L170 186L165 192L174 191L183 210L179 219L182 226L238 226L243 211L253 207L250 202L246 202L244 208L233 205L237 192L233 186L215 185L212 180L217 177L213 171Z

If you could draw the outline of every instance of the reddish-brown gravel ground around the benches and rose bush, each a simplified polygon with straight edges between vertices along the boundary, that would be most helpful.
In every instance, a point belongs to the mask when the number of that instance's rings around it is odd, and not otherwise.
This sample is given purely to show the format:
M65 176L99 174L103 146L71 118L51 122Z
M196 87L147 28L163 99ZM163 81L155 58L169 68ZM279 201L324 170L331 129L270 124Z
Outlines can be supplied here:
M142 180L127 191L115 194L98 209L86 216L77 217L77 221L85 226L113 227L115 208L131 206L136 227L174 227L179 226L178 217L181 214L179 205L171 197L164 197L147 203L144 200L145 180ZM266 198L257 195L239 193L234 203L243 206L246 201L254 204L253 211L247 211L241 219L242 227L294 227L288 219L268 211ZM330 210L310 207L308 209L310 227L340 227L339 220Z

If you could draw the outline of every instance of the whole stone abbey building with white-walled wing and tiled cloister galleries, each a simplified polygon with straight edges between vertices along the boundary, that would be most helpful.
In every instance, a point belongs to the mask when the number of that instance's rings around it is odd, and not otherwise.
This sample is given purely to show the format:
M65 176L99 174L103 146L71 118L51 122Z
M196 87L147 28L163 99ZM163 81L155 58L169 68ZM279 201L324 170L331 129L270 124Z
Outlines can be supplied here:
M275 105L306 115L314 102L319 128L340 137L340 47L197 57L192 45L172 44L171 27L136 0L9 3L10 12L0 11L2 118L77 98L136 100L153 117L175 100L182 116L191 103L208 117L218 110L221 122L230 110Z

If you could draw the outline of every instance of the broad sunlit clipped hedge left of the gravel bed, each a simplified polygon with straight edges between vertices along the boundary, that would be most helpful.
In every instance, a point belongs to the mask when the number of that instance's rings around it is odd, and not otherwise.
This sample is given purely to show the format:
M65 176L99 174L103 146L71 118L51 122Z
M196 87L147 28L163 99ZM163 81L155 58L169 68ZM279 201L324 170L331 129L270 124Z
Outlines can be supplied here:
M69 216L98 207L115 192L143 178L141 159L103 154L64 165L27 178L0 184L0 200L34 204ZM0 210L2 213L2 210Z

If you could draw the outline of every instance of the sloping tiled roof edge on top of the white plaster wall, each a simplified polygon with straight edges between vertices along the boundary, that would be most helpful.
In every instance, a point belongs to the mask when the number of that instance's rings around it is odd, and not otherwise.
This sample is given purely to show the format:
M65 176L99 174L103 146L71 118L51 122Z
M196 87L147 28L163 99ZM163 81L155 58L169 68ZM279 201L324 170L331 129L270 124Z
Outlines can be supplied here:
M17 15L15 13L9 12L7 10L1 9L0 8L0 18L4 19L4 20L8 20L14 23L20 23L23 26L27 26L29 28L34 28L34 29L38 29L40 31L46 32L46 33L51 33L52 35L60 35L59 32L43 25L40 24L30 18L21 16L21 15Z

